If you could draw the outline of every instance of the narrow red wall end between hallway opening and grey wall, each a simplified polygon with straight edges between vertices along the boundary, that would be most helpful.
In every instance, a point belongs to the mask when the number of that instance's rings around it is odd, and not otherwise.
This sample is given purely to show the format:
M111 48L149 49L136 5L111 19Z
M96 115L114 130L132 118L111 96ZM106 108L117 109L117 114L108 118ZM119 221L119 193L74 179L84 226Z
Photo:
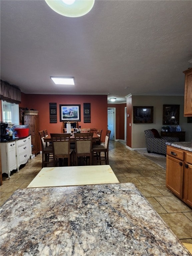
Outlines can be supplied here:
M127 97L127 146L132 147L132 96ZM131 126L129 126L131 124Z

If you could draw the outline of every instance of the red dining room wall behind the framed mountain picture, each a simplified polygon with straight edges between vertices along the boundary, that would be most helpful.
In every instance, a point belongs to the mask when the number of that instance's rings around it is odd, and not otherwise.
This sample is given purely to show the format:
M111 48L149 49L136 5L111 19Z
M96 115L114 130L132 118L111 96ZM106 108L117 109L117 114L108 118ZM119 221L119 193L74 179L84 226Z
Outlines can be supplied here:
M57 123L49 123L49 103L57 103ZM83 103L91 103L91 123L83 122ZM40 130L48 133L62 133L62 122L59 118L59 104L81 105L81 128L103 129L101 141L104 141L107 130L107 95L48 95L21 94L19 107L35 109L39 113Z

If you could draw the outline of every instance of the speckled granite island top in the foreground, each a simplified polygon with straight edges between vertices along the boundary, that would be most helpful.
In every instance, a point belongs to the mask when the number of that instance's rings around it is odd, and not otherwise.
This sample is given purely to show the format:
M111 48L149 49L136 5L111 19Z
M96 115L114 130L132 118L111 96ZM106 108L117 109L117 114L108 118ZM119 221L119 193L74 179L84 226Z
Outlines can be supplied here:
M190 255L132 183L18 189L0 224L3 256Z

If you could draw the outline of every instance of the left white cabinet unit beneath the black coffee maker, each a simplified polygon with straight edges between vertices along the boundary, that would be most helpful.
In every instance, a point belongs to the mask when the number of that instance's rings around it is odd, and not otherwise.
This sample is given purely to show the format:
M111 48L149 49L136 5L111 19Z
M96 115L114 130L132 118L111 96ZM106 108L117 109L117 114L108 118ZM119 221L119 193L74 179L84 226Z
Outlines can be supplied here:
M1 169L10 178L12 170L17 169L15 141L1 143Z

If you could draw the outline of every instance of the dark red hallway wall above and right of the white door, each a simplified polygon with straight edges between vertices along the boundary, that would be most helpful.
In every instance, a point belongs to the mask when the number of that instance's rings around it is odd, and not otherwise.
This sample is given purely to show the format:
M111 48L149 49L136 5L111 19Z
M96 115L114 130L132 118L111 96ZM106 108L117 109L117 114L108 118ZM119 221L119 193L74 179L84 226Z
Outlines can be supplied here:
M108 104L108 108L115 108L116 115L116 140L125 139L125 107L126 103L123 104Z

